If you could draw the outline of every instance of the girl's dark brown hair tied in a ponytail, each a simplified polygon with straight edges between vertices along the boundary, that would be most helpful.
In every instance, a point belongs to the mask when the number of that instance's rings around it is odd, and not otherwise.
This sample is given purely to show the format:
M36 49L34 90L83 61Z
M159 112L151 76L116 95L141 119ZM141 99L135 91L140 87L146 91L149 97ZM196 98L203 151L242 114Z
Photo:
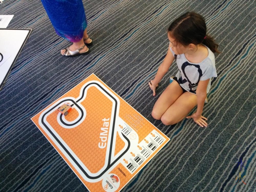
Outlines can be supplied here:
M212 52L220 53L218 44L214 39L206 34L206 24L204 17L195 12L186 12L175 19L168 28L168 32L179 44L187 46L189 44L204 44Z

